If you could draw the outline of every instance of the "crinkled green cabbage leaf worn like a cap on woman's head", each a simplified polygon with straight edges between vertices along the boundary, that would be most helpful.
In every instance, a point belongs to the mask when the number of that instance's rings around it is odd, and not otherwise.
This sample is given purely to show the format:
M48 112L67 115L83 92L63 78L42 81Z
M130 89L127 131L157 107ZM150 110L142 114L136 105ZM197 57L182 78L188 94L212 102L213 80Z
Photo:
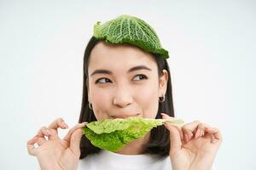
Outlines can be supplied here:
M168 51L162 48L154 29L134 16L123 14L104 24L98 21L93 36L107 43L130 43L149 53L169 58Z

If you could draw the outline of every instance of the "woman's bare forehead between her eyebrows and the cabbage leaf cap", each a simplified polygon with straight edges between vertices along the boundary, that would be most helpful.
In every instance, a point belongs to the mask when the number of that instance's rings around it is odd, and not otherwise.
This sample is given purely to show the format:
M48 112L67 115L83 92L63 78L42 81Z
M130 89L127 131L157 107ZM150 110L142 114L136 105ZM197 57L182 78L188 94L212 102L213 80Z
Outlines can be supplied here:
M157 70L153 54L129 44L98 42L90 53L88 71L94 69L128 70L136 65L146 65Z

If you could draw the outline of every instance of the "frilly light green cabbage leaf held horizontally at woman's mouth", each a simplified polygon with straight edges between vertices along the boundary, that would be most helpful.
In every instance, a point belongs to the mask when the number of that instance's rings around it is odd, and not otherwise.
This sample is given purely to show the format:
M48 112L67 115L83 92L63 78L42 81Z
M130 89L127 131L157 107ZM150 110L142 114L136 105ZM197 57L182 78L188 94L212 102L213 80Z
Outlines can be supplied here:
M82 130L90 143L96 147L102 150L118 151L125 144L146 135L153 127L163 125L164 122L174 125L183 124L182 120L129 117L90 122Z

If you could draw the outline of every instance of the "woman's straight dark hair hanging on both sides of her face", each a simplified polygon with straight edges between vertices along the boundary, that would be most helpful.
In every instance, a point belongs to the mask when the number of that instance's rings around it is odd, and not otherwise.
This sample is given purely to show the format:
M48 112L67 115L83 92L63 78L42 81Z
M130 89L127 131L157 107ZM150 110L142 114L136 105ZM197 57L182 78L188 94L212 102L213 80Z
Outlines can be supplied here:
M79 122L93 122L96 121L96 116L93 111L90 110L88 104L88 63L90 58L90 52L96 44L100 42L96 37L91 37L90 41L87 44L84 52L84 84L83 84L83 100L82 108L79 116ZM163 74L162 71L165 69L168 72L168 82L166 90L166 100L162 103L159 103L158 113L155 118L161 118L160 113L165 112L169 116L174 116L173 102L172 102L172 81L170 76L170 70L167 63L167 60L161 57L159 54L153 54L154 59L158 66L159 77ZM157 154L159 156L168 156L170 151L170 137L169 131L164 126L155 127L150 132L150 139L146 145L146 150L144 153L148 154ZM101 149L90 144L90 140L87 139L84 135L82 136L80 142L81 155L80 159L88 156L92 153L96 153Z

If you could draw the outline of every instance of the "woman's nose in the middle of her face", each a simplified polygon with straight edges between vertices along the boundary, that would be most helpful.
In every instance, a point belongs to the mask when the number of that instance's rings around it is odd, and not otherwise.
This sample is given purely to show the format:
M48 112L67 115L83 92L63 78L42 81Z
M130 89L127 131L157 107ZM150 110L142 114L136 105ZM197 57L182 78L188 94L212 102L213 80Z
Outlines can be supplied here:
M121 88L117 88L114 92L113 105L124 108L127 105L131 105L132 101L132 94L128 88L123 86Z

